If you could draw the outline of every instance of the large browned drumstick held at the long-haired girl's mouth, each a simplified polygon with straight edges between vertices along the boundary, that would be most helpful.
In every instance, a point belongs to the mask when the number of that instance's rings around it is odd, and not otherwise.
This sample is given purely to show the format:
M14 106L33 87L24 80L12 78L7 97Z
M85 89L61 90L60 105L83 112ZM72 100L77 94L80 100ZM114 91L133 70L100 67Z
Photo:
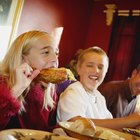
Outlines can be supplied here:
M70 69L66 68L49 68L40 71L37 79L45 83L61 83L65 80L75 81L75 77Z

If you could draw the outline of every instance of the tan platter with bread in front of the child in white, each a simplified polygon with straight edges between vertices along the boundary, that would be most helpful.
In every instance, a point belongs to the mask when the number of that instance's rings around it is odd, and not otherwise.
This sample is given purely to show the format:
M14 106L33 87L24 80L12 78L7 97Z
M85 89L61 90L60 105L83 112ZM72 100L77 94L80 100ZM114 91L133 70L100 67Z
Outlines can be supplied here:
M68 136L80 140L140 140L137 136L114 129L99 126L92 128L91 126L89 127L88 125L78 122L78 120L75 122L60 122L59 125Z

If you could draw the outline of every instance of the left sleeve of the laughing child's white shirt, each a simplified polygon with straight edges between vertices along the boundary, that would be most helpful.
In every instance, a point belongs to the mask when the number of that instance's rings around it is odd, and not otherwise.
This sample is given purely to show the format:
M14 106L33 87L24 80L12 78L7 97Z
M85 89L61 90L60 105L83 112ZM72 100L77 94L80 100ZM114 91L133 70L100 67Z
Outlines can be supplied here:
M76 116L85 117L86 103L83 96L73 89L67 89L60 96L57 121L67 121Z

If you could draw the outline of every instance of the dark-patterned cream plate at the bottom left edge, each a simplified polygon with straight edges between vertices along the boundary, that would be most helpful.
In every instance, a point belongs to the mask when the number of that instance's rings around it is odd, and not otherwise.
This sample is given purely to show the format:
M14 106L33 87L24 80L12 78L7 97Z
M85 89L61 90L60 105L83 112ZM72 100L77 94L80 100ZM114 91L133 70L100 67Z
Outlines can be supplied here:
M0 140L76 140L46 131L32 129L7 129L0 131Z

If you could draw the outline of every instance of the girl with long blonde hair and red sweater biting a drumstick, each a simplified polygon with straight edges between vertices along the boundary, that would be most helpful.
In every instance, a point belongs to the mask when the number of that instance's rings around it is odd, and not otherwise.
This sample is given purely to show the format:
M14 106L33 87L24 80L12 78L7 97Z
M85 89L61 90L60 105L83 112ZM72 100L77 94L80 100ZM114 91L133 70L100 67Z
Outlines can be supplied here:
M56 125L55 85L35 80L44 68L58 67L58 46L43 31L21 34L0 65L0 129L51 131Z

